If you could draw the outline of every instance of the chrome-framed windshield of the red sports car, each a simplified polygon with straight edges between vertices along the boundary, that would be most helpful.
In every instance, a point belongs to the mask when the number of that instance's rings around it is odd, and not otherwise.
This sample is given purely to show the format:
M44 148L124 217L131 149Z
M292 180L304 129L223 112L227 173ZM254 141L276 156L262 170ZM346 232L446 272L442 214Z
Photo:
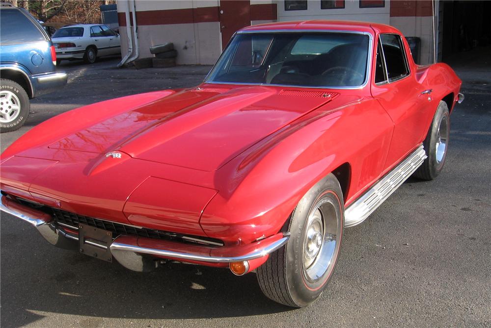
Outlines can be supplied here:
M205 82L358 87L369 37L346 32L237 34Z

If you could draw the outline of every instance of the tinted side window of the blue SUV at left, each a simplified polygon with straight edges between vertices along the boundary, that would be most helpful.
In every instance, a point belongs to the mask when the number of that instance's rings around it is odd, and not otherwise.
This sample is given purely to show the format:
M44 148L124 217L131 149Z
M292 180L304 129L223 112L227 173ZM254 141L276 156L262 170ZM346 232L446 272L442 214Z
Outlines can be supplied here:
M0 9L0 44L46 41L46 37L19 9Z

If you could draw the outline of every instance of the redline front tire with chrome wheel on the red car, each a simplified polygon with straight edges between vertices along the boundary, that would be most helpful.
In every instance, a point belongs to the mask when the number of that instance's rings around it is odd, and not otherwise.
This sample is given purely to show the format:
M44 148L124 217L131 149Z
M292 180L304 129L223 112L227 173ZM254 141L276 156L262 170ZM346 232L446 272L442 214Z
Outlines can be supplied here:
M319 204L322 204L321 207ZM332 174L302 197L290 217L288 243L257 268L257 280L266 297L291 307L304 307L319 298L332 277L339 255L344 224L343 204L341 187ZM306 247L309 240L314 240L307 235L314 222L311 218L318 210L322 213L324 238L321 238L322 247L315 253L313 262L306 267ZM335 226L333 222L336 222ZM331 235L332 231L335 231L335 235ZM334 244L331 244L332 241ZM326 256L331 253L330 257ZM316 278L312 278L309 270L319 274L314 274Z

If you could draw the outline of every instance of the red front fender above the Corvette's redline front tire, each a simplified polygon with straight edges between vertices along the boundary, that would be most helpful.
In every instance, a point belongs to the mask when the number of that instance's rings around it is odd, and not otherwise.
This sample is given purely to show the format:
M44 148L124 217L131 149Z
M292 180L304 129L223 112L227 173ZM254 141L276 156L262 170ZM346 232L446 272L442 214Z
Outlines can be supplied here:
M203 231L252 242L280 231L303 195L342 164L352 167L348 201L377 179L393 123L373 99L348 103L303 117L220 169L219 192L200 220Z

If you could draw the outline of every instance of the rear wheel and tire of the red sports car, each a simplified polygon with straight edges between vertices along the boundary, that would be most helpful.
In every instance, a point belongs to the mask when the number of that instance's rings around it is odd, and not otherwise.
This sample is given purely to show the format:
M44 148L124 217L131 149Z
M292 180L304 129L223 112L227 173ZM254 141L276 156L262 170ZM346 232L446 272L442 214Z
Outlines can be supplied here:
M450 114L448 106L440 101L433 122L428 130L423 146L428 156L413 176L423 180L433 180L443 170L447 157L450 135Z

